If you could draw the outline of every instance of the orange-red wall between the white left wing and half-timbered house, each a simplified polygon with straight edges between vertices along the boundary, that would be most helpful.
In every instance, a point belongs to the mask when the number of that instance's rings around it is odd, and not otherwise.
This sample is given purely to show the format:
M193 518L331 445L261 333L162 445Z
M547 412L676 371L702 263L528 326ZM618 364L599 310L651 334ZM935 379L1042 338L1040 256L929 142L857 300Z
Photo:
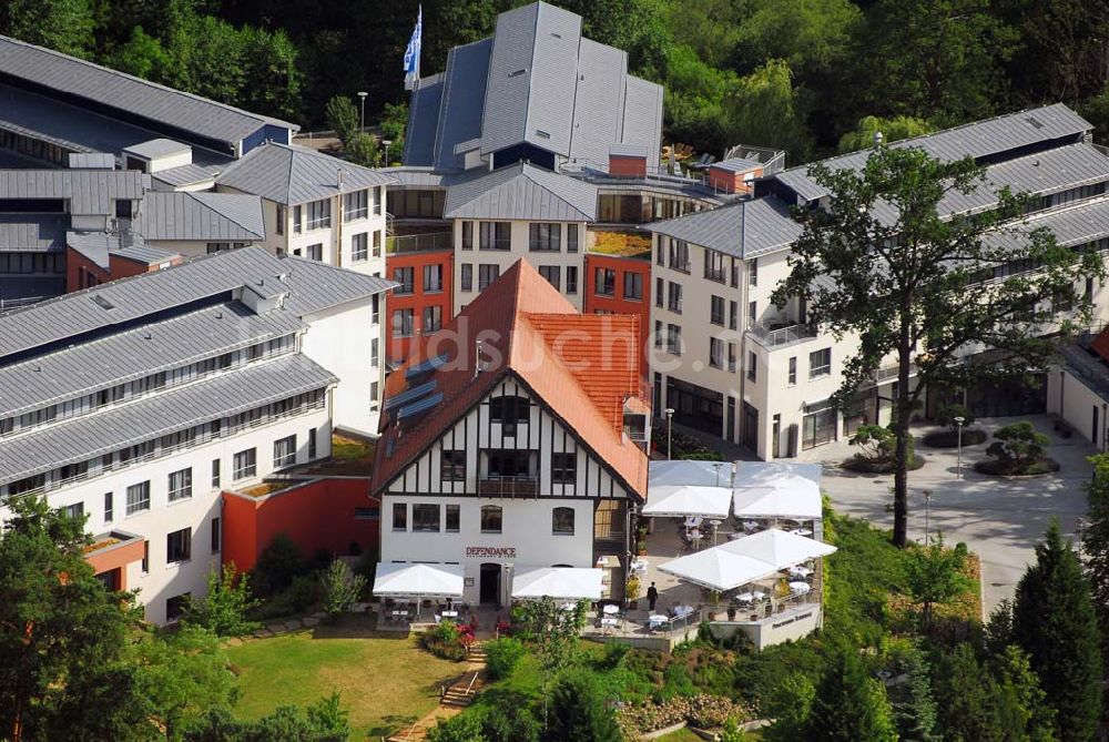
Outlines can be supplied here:
M349 555L352 543L362 552L376 549L379 519L357 519L355 508L377 507L368 479L317 479L258 498L224 492L223 560L241 571L253 569L278 533L309 559L321 549Z

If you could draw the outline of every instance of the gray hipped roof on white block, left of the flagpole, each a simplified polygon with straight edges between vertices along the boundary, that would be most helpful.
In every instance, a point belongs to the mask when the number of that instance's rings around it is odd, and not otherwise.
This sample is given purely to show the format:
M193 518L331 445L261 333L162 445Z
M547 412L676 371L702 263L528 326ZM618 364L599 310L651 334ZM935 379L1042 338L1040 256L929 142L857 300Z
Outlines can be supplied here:
M388 175L353 162L303 146L274 142L251 150L216 179L217 185L285 205L303 204L391 182Z

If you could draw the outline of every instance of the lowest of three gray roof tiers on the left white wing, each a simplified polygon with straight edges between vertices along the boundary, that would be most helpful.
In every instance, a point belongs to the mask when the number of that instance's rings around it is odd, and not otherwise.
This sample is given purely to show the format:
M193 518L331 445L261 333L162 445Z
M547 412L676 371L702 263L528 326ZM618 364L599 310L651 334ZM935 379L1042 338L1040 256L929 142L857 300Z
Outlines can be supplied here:
M220 374L114 409L74 417L6 440L4 455L0 456L0 482L84 461L336 382L330 372L307 356L296 354Z

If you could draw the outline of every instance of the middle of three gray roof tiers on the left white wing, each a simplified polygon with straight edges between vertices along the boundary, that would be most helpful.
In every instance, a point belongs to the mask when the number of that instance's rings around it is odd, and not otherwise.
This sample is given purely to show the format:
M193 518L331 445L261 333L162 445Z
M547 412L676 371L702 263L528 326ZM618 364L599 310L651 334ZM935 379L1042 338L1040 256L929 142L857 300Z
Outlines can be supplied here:
M254 314L227 302L0 366L0 417L289 335L292 312Z

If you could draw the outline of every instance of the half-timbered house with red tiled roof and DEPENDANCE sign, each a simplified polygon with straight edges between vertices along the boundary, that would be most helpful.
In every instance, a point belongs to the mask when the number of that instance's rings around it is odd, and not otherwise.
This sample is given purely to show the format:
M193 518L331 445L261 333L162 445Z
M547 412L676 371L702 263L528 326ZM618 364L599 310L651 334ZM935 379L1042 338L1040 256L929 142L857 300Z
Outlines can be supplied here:
M634 317L582 315L512 265L386 383L381 561L461 565L472 603L507 602L513 570L624 562L647 495L639 353Z

